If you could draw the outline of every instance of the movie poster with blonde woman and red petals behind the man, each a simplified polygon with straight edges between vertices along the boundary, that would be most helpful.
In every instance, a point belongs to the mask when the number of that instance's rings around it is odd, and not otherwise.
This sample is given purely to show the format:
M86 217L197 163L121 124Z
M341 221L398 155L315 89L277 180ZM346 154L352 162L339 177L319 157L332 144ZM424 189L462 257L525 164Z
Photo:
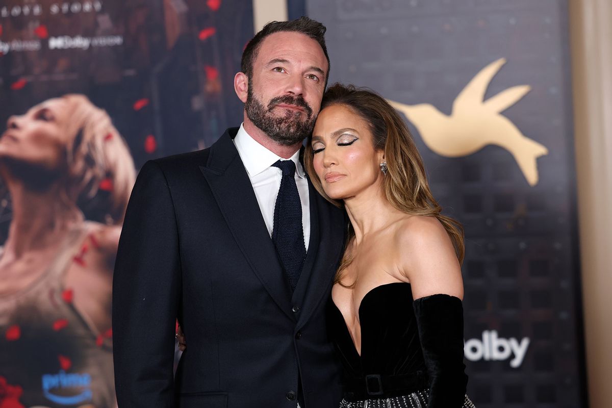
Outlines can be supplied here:
M0 4L0 406L116 406L111 278L136 172L241 122L252 35L250 1Z

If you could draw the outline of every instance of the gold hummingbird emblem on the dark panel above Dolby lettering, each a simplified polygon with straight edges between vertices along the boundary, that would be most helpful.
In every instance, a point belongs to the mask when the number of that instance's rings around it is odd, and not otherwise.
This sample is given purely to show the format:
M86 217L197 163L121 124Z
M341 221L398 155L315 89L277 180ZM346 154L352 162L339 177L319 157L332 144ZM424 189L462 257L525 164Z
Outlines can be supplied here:
M480 70L455 98L450 116L428 103L405 105L392 100L389 103L414 124L427 147L436 154L461 157L496 144L512 154L529 185L534 186L538 182L536 159L548 154L548 149L523 135L501 114L527 94L531 86L513 86L483 100L493 76L504 64L506 58L500 58Z

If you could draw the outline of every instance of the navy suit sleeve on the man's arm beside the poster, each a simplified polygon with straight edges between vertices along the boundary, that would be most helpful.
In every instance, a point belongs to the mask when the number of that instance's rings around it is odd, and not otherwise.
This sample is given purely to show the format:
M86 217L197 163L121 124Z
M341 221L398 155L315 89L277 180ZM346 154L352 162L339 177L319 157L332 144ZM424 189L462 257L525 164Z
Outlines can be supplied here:
M174 328L181 264L170 186L148 161L132 190L113 275L119 408L174 406Z

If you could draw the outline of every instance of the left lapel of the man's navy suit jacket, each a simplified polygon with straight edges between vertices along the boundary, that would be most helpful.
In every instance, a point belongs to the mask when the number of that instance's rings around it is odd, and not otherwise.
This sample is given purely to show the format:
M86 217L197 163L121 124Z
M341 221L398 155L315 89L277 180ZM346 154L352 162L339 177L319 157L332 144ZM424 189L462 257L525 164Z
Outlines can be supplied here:
M261 216L247 171L231 140L236 132L237 129L228 130L211 146L206 166L200 166L200 169L253 272L278 307L295 319L291 313L291 291L285 273Z

